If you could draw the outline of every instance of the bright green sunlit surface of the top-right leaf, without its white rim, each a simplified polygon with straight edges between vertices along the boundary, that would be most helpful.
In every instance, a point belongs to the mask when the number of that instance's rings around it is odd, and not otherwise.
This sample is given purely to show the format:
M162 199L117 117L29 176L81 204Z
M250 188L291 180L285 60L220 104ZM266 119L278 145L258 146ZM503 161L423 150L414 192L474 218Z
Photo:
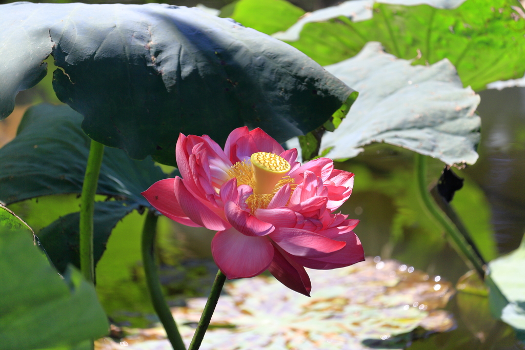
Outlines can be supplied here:
M482 90L489 82L520 78L525 71L520 59L525 51L525 20L516 20L512 14L519 14L511 6L519 4L511 0L469 0L456 9L375 4L373 19L337 25L354 31L353 41L361 42L360 46L367 41L380 41L397 57L415 59L414 64L432 64L448 58L465 86ZM324 43L319 40L319 33L312 33L317 38L309 33L315 25L305 26L301 40L292 44L307 55L315 55L307 49L308 41ZM331 56L324 56L324 60L331 59L333 63L348 58L348 49L330 49ZM318 60L318 55L312 58Z

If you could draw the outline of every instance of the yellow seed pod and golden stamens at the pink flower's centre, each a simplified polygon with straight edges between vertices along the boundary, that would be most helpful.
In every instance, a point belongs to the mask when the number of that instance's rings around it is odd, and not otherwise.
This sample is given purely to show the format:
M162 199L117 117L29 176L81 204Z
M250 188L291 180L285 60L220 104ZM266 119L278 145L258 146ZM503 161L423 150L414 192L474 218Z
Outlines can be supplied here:
M251 163L251 164L250 164ZM251 210L266 208L277 191L290 184L296 187L294 179L285 175L291 169L285 158L269 152L257 152L251 155L249 162L237 162L228 171L230 177L237 178L237 186L248 185L254 194L246 199Z

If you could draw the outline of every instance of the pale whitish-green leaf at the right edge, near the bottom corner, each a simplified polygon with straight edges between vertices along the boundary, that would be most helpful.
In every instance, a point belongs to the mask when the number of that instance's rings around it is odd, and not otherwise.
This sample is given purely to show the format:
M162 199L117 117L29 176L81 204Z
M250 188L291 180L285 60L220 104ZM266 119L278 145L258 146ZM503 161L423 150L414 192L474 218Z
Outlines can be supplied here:
M516 328L518 335L525 340L525 236L521 245L513 252L492 260L489 263L492 280L509 301L500 305L501 320ZM494 298L491 302L495 301Z

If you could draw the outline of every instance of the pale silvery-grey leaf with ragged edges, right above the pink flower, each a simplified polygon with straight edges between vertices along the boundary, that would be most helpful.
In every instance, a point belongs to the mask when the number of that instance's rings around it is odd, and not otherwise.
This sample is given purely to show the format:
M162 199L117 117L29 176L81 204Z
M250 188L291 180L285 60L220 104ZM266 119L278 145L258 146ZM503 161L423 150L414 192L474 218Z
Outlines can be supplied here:
M480 99L463 88L448 60L412 66L372 42L359 55L325 68L360 89L339 128L322 137L321 151L329 150L327 157L354 157L366 144L386 142L446 164L476 162Z

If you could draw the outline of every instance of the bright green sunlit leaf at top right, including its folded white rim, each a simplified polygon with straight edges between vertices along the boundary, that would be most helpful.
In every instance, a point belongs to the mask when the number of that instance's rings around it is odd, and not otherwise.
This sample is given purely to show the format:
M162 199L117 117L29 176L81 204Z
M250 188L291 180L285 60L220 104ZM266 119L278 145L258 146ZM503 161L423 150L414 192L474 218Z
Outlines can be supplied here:
M465 86L482 90L495 80L521 78L525 71L525 15L514 0L406 1L388 0L373 5L373 18L357 16L367 9L353 8L358 2L313 12L299 20L285 33L276 34L286 40L297 38L298 27L309 18L329 22L308 23L300 31L300 40L290 43L319 62L330 65L352 57L369 41L380 41L397 57L414 59L425 65L448 58L456 66ZM388 2L388 4L386 4ZM432 4L418 6L418 3ZM453 8L461 4L457 8ZM352 7L352 13L342 11ZM441 8L436 8L441 7ZM360 12L361 11L361 12ZM346 18L351 17L351 20ZM336 20L337 19L337 20ZM300 24L302 23L302 24ZM300 30L300 29L299 29Z

